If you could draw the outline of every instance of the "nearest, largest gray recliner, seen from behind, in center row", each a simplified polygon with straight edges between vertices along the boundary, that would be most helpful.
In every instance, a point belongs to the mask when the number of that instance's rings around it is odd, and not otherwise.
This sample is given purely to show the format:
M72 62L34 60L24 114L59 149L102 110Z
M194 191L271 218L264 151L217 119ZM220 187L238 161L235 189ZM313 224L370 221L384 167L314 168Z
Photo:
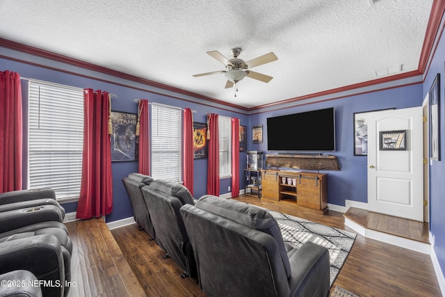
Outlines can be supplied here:
M264 209L204 195L180 212L207 296L328 296L327 248L287 245Z

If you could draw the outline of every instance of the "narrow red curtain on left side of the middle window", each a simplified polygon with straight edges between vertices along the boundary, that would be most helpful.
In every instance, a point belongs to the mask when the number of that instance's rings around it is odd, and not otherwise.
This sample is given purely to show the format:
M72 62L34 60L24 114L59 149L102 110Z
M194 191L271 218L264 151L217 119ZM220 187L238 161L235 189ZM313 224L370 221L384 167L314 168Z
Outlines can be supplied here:
M149 109L148 100L139 100L139 173L150 175Z

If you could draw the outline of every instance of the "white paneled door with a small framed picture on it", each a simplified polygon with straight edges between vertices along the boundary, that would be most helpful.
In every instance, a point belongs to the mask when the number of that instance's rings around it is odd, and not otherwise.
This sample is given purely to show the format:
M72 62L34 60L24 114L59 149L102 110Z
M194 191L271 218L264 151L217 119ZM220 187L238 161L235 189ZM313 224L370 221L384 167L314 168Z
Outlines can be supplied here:
M423 222L422 112L419 106L366 114L369 211Z

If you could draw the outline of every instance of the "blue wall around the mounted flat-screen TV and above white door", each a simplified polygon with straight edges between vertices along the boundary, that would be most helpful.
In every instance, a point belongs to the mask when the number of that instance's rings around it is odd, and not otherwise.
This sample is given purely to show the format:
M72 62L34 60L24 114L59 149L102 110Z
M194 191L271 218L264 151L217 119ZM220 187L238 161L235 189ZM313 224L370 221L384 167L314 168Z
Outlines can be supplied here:
M263 134L267 135L266 119L277 115L300 113L316 109L334 107L336 124L336 151L326 152L337 156L339 171L321 171L328 173L328 203L345 206L345 200L367 202L367 166L366 156L354 156L353 113L374 111L377 109L403 109L421 106L423 102L422 84L389 88L362 95L343 97L320 103L287 107L275 111L266 111L250 115L249 127L263 125ZM288 137L298 137L298 129L304 127L288 127ZM249 129L249 130L250 130ZM264 150L267 153L267 137L264 142L251 145L250 150ZM271 152L273 153L273 152Z

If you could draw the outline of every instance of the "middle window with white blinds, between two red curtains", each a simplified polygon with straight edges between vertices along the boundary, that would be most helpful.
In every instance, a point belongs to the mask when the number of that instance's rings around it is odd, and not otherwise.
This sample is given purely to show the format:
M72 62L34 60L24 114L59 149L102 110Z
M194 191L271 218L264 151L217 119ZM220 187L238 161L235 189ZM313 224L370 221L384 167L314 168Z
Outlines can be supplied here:
M181 109L152 104L152 177L181 182Z

